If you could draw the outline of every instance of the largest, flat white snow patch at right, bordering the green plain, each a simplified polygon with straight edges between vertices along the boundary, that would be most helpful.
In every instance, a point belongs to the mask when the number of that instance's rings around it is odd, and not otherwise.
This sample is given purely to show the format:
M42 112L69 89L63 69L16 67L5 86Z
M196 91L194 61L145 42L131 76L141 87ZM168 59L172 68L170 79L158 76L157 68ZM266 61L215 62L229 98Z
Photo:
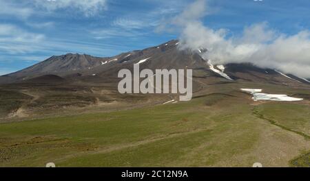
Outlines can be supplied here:
M242 91L250 93L253 95L252 99L254 101L258 100L268 100L268 101L301 101L301 98L289 97L287 95L276 95L276 94L265 94L261 93L262 89L253 88L240 88Z

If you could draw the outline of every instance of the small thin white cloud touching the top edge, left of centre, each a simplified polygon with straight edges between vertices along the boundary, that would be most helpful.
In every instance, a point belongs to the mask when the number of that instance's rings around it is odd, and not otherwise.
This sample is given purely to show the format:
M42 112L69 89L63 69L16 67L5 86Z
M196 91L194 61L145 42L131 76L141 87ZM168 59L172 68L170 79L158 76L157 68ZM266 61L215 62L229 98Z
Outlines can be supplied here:
M33 0L39 8L49 11L60 10L64 8L74 8L83 12L85 16L94 16L101 10L105 10L106 0Z

